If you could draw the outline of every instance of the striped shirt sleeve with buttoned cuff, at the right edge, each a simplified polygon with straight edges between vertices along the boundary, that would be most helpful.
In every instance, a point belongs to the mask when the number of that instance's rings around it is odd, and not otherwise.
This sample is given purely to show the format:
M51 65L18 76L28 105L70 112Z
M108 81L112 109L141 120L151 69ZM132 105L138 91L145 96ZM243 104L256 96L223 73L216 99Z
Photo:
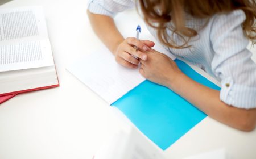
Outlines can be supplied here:
M242 10L217 15L210 41L214 51L212 70L221 80L220 99L238 108L256 107L256 64L246 49L249 40L242 30Z

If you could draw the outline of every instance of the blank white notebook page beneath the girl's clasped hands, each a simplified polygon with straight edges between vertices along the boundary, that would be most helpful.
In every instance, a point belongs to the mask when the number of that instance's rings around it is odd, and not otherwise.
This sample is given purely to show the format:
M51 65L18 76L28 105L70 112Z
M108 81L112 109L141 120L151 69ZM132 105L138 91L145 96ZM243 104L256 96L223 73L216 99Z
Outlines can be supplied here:
M145 80L138 69L117 64L107 49L80 58L67 70L108 104L112 104Z

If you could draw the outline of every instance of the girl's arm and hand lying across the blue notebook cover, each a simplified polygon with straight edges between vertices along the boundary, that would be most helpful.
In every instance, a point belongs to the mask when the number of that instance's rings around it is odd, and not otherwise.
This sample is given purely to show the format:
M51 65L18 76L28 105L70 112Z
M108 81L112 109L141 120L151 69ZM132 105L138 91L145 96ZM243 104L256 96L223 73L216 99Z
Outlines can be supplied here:
M221 123L242 131L252 131L255 128L255 108L245 110L229 106L220 101L220 91L210 89L187 77L168 56L153 49L147 54L147 61L141 60L139 72L142 76L170 88Z

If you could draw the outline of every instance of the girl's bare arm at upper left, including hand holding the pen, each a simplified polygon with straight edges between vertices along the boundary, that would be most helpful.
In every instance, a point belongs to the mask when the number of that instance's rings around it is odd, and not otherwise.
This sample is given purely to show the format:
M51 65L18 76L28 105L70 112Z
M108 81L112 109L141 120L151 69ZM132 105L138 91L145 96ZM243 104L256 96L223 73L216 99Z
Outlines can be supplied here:
M143 60L147 59L147 54L141 51L147 51L150 47L153 47L155 44L152 41L137 40L135 37L124 39L115 26L113 18L93 14L89 10L87 13L94 32L113 53L119 64L128 68L137 68L139 60L134 56ZM134 45L139 48L138 51L135 51Z

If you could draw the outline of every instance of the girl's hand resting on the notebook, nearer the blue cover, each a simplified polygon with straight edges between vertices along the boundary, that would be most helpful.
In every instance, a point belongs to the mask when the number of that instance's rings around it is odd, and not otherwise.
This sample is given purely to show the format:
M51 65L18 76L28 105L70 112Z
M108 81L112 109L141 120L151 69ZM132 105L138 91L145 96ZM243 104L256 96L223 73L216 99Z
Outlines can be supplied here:
M171 83L182 74L176 63L167 55L154 49L145 53L147 53L147 60L141 60L139 73L152 82L171 88Z

